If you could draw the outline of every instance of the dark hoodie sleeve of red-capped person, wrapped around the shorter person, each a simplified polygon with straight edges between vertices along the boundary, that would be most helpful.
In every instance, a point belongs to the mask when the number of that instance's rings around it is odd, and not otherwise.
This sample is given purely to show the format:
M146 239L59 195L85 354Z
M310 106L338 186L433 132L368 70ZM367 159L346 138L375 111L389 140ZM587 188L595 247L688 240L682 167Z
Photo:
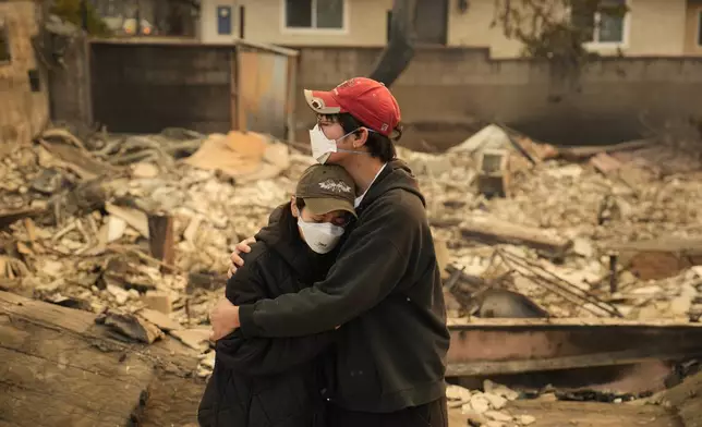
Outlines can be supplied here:
M295 294L242 305L243 334L300 337L328 331L384 300L408 268L408 256L399 247L411 247L419 231L410 213L383 203L370 207L367 215L324 281Z

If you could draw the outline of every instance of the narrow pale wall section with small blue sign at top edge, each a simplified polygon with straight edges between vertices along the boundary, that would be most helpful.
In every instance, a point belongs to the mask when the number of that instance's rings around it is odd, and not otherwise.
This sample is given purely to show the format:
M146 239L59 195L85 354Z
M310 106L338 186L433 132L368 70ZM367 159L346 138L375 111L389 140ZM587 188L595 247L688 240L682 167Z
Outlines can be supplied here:
M239 38L238 0L202 0L199 9L199 39L204 44L228 44ZM229 15L229 16L227 16ZM229 22L220 25L222 22Z

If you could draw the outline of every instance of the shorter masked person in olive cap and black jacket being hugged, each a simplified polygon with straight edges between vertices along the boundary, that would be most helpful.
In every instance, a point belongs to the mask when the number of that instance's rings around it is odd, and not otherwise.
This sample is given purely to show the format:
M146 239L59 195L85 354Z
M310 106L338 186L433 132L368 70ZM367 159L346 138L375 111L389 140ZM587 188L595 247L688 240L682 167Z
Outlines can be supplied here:
M232 304L296 293L324 279L344 228L355 218L355 184L341 167L304 171L290 203L256 234L246 266L227 281ZM315 358L334 332L296 338L244 339L240 331L217 341L215 370L199 404L201 426L324 426L324 387ZM292 399L292 401L291 401Z

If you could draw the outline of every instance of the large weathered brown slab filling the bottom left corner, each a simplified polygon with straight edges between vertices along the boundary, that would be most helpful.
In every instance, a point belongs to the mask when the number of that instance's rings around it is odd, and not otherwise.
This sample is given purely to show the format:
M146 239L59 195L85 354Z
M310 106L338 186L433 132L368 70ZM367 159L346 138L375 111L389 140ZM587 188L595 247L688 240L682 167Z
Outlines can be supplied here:
M195 423L198 352L114 340L95 318L0 292L0 426Z

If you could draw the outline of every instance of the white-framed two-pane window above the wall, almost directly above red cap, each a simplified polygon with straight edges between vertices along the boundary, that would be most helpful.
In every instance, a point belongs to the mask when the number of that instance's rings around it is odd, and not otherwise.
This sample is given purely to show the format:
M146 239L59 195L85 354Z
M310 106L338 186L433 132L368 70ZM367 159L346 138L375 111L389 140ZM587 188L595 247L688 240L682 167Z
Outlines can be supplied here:
M343 29L346 0L285 0L287 28Z

